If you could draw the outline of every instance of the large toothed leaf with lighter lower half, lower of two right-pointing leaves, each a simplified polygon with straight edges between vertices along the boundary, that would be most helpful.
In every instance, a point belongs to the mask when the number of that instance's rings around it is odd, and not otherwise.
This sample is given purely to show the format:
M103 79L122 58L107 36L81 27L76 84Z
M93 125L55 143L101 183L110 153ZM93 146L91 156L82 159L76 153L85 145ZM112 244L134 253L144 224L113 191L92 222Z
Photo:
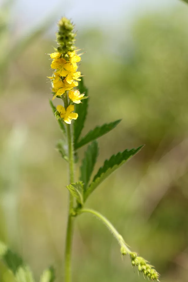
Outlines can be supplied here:
M119 152L117 155L113 155L109 160L105 160L103 167L100 167L97 174L93 178L93 182L90 184L84 194L84 200L96 189L96 187L103 182L112 172L124 164L130 157L134 156L143 147L140 146L136 149L125 150Z

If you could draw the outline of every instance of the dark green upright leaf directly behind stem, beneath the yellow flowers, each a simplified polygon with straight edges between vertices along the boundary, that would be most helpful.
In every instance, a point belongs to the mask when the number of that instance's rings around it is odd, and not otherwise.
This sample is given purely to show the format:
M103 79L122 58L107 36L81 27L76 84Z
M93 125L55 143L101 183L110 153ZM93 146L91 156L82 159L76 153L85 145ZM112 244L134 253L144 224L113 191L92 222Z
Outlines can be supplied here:
M85 96L88 96L88 88L86 88L84 85L83 77L81 77L81 80L78 85L78 89L81 94L85 93ZM85 119L88 112L88 102L89 102L89 98L83 99L82 103L75 104L74 106L75 113L78 113L78 118L74 121L74 144L78 142L80 134L83 130Z

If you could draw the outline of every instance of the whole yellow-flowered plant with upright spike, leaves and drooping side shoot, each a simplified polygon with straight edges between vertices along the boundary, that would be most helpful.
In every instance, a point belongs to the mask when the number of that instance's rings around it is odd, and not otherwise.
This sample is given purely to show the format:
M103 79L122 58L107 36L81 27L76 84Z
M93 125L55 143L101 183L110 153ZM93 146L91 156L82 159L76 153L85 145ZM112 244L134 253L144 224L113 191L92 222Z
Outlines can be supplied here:
M84 208L85 200L91 194L91 192L102 182L110 173L115 169L120 167L124 162L126 162L130 157L135 155L142 146L138 148L133 148L131 150L125 150L119 152L117 155L113 155L109 160L106 160L104 166L99 169L93 182L89 184L90 177L93 172L93 168L98 156L98 144L96 139L105 133L112 130L118 123L118 121L112 122L110 124L105 124L101 127L96 127L94 130L91 130L85 138L85 143L92 142L86 151L85 157L82 162L80 169L80 181L74 183L74 148L78 149L79 136L83 129L85 116L87 114L88 101L85 100L82 103L82 99L85 93L87 93L87 88L84 87L83 79L81 81L80 77L82 76L80 71L78 71L77 63L81 60L80 55L75 50L74 41L75 33L73 32L73 24L66 18L62 18L58 23L58 33L57 33L57 42L58 48L55 49L56 52L51 53L50 57L53 60L51 63L51 68L53 69L52 76L48 77L51 80L52 84L52 94L54 100L56 97L61 98L63 105L58 105L55 107L51 102L54 115L59 122L61 129L63 128L63 134L66 135L68 152L65 150L63 145L59 143L61 156L68 161L69 165L69 182L70 184L66 187L69 190L69 199L68 199L68 220L67 220L67 230L66 230L66 245L65 245L65 282L71 282L71 249L72 249L72 239L73 239L73 223L75 216L83 213L90 213L95 215L100 219L105 226L110 230L113 236L116 238L120 245L120 252L122 256L129 254L132 266L137 266L138 271L142 272L144 276L150 278L151 281L158 280L159 274L154 269L153 266L148 263L145 259L138 256L137 253L132 252L127 244L125 243L123 237L118 233L115 227L111 222L99 212L93 209ZM74 89L78 86L80 81L80 91ZM74 104L80 115L80 120L78 118L78 113L74 113ZM82 104L82 105L80 105ZM79 108L80 107L80 108ZM72 128L72 120L76 120L74 126L74 132ZM78 128L78 130L77 130ZM75 144L74 144L74 134L75 134ZM76 138L77 136L77 138ZM65 136L64 136L65 137ZM78 139L78 140L77 140ZM94 141L95 140L95 141ZM77 145L77 147L76 147ZM61 147L62 146L62 147ZM67 148L66 148L67 149ZM77 153L77 151L76 151Z

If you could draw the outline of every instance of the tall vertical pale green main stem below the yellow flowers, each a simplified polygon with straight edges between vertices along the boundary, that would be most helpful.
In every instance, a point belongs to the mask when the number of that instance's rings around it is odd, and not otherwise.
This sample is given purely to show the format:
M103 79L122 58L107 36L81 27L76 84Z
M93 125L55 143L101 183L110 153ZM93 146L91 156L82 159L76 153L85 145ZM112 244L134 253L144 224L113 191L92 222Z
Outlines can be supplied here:
M67 94L64 98L65 108L68 106ZM69 160L69 181L74 182L74 148L73 148L73 132L71 125L66 124L67 127L67 143L68 143L68 160ZM69 207L68 207L68 223L66 232L66 247L65 247L65 282L71 281L71 247L73 237L73 217L71 211L73 209L73 196L69 192Z

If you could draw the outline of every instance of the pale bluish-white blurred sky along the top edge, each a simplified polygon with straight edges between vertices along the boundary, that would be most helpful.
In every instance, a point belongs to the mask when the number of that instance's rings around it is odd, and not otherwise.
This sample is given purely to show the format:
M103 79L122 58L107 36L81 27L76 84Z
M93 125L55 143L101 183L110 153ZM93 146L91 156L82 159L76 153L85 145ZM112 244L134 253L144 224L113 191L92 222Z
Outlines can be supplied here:
M116 22L132 21L146 11L183 6L180 0L15 0L14 15L19 30L38 24L56 12L56 19L67 16L77 27L92 24L104 28Z

